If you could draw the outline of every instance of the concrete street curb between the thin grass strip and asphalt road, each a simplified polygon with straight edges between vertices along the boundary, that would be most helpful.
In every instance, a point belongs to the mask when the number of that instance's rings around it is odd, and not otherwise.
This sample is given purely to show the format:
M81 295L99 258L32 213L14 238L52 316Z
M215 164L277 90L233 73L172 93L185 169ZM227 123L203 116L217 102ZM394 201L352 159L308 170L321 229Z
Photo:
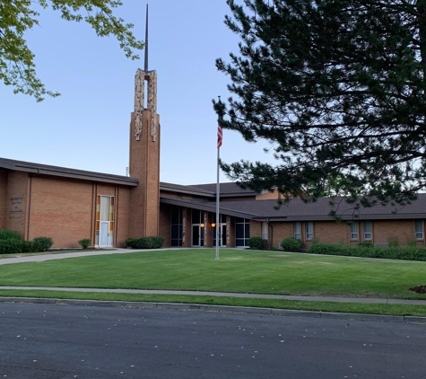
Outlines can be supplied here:
M251 313L270 314L284 317L310 317L319 319L337 319L371 322L404 322L404 323L426 323L426 317L415 316L389 316L383 314L364 313L332 313L315 311L297 311L291 309L256 308L231 305L208 305L208 304L180 304L180 303L150 303L150 302L122 302L101 300L72 300L72 299L49 299L37 297L0 297L1 303L21 304L61 304L61 305L83 305L83 306L109 306L126 308L148 308L168 309L177 311L203 311L223 313Z

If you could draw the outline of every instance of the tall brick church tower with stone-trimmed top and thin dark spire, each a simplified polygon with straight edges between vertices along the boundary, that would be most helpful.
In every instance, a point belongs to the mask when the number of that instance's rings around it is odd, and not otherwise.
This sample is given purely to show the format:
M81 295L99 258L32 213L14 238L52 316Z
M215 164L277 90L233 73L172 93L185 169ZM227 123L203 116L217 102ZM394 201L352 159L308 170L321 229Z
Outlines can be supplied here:
M157 72L148 70L148 4L144 69L138 68L135 75L129 155L129 173L139 180L139 185L130 193L128 235L134 238L159 235L160 116L157 114Z

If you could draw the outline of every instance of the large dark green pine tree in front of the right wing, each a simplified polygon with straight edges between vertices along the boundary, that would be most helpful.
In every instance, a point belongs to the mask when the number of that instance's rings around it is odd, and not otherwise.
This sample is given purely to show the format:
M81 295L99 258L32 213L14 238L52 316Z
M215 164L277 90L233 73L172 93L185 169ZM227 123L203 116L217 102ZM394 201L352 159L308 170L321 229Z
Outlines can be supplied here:
M241 39L222 126L276 165L222 163L284 196L404 204L426 187L426 0L228 0ZM234 96L235 95L235 96ZM374 198L374 200L373 200Z

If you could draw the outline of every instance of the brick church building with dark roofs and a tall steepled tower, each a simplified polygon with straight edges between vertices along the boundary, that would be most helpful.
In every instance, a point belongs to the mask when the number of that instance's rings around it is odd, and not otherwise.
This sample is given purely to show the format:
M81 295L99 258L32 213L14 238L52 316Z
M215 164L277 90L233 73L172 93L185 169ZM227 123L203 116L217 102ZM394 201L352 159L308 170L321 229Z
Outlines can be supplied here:
M0 158L0 229L26 240L52 237L54 247L77 247L90 238L94 247L125 247L126 238L161 235L165 247L246 247L264 238L279 248L286 237L313 241L424 244L426 194L394 213L390 207L361 209L356 218L342 202L343 223L330 216L328 198L315 203L292 199L276 210L277 192L221 185L220 223L216 225L216 185L184 186L160 181L161 125L157 113L157 73L135 75L135 110L130 120L129 176ZM144 88L147 85L147 99ZM337 199L338 201L338 199ZM352 221L348 224L344 221Z

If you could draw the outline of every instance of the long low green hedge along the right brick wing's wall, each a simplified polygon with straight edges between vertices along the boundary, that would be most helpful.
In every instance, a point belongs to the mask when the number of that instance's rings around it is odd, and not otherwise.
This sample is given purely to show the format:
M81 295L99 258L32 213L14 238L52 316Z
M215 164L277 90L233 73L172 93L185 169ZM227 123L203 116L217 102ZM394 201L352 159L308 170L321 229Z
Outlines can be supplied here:
M381 258L387 260L426 261L426 248L417 246L378 247L369 244L349 246L343 243L314 242L308 250L311 254L341 255L346 257Z

